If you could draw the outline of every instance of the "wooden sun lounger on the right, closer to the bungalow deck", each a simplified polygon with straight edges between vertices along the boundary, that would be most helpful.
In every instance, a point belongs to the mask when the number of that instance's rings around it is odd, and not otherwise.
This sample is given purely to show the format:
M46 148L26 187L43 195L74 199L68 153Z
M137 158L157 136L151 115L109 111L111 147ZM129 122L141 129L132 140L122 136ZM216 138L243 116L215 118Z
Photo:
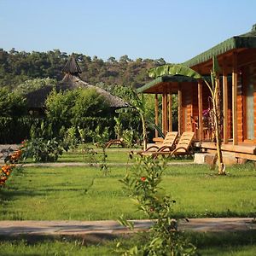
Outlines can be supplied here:
M157 158L159 155L163 156L172 156L172 155L190 155L191 156L191 144L193 142L195 136L195 132L183 132L182 136L180 137L176 148L173 150L166 150L166 148L160 148L156 152L152 154L154 158Z

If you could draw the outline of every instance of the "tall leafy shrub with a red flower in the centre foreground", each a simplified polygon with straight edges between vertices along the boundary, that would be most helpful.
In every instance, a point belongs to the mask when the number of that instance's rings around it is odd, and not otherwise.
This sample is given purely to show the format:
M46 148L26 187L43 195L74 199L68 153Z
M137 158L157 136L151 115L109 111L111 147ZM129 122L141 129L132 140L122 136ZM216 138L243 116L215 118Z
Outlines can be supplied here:
M165 161L140 157L121 180L129 196L136 202L137 209L143 211L146 218L154 220L146 241L129 250L121 249L123 255L195 255L192 244L178 239L177 221L172 218L172 205L175 201L160 188L165 166ZM119 220L129 229L133 228L124 218Z

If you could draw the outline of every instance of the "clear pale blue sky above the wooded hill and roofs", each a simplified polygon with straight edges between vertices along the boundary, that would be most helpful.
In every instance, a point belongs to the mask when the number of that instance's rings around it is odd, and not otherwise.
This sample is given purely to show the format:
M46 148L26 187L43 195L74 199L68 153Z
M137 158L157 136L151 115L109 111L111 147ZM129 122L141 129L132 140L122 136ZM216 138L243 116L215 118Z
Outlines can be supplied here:
M187 61L256 23L256 0L0 0L0 48Z

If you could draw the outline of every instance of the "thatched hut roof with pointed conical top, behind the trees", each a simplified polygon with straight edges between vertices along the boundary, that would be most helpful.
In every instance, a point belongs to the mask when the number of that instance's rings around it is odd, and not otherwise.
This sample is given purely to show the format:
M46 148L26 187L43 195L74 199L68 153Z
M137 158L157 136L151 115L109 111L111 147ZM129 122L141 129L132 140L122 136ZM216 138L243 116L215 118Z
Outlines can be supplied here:
M65 67L63 68L63 72L65 73L64 78L61 80L59 84L55 86L55 90L57 92L64 90L73 90L77 88L90 89L94 88L99 94L104 96L106 101L109 104L110 108L125 108L128 107L129 104L124 102L118 96L113 96L107 90L103 90L95 85L88 84L80 79L79 73L81 73L81 69L79 67L78 62L74 59L73 55L68 59ZM45 108L45 100L51 90L53 90L52 85L45 86L44 88L34 90L26 95L26 100L28 104L28 108L32 110L38 110L41 108L43 110ZM40 111L42 112L42 111Z

